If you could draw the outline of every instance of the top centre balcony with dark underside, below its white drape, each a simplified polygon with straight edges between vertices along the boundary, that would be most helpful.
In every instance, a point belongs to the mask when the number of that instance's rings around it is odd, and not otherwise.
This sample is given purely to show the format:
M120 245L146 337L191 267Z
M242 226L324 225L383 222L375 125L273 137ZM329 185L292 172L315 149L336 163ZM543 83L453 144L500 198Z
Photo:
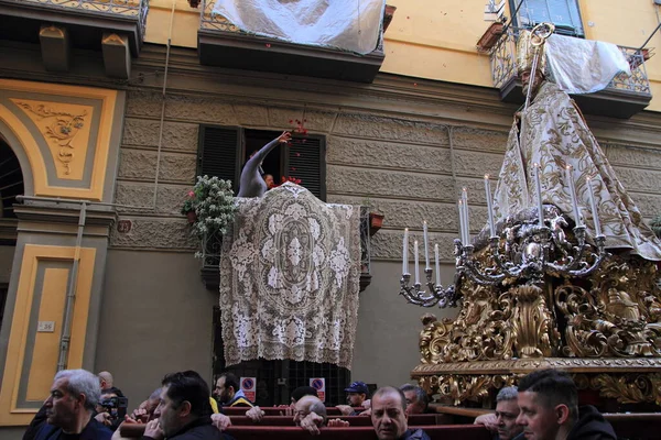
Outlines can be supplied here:
M197 47L203 65L371 82L383 63L382 40L370 54L356 55L257 36L214 14L215 3L216 0L203 0L199 7Z

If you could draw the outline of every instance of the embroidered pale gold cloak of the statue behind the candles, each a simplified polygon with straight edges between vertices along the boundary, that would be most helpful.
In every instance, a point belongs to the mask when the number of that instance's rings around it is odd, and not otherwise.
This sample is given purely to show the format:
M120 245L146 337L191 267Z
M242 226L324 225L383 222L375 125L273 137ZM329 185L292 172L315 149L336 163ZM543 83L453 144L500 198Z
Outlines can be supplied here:
M606 248L629 249L646 260L660 261L661 241L644 223L568 95L545 81L522 118L525 133L519 133L517 120L510 130L494 196L496 220L537 206L531 175L537 163L541 166L542 201L555 205L576 221L565 170L572 165L578 208L589 237L596 231L586 177L592 178Z

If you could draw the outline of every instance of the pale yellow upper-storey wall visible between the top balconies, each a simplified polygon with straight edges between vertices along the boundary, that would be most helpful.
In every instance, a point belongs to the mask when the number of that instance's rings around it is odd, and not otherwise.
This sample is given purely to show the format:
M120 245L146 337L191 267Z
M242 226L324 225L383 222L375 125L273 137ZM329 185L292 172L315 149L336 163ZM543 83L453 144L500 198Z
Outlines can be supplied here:
M147 41L165 44L175 4L172 44L196 47L199 10L186 0L152 0ZM491 87L489 58L475 43L489 23L484 21L487 0L388 0L397 7L386 32L386 61L381 72ZM507 15L509 13L509 2ZM639 47L658 24L652 0L579 0L587 38ZM661 13L661 12L660 12ZM648 47L661 47L657 33ZM661 111L661 56L647 63L652 87L648 110Z

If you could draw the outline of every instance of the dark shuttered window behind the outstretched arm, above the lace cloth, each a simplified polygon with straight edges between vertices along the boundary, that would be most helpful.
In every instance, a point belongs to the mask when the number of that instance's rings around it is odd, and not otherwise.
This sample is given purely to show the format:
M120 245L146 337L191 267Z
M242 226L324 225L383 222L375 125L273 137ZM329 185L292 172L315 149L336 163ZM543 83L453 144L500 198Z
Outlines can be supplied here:
M241 168L250 155L278 138L281 132L236 127L201 125L197 174L232 182L238 191ZM292 133L291 145L277 146L262 168L275 184L288 177L301 179L321 200L326 200L326 144L324 136Z

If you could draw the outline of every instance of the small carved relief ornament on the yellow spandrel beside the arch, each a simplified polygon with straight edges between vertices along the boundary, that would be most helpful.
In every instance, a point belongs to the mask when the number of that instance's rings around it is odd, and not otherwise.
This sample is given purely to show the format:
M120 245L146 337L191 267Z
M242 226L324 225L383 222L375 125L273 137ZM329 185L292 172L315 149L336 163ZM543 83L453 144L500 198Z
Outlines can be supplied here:
M64 167L64 174L71 175L71 163L75 157L74 140L86 124L86 119L89 116L87 111L84 110L79 114L74 114L66 111L57 111L44 103L30 103L25 101L15 101L15 103L34 114L39 120L47 121L42 134L58 147L56 158Z

